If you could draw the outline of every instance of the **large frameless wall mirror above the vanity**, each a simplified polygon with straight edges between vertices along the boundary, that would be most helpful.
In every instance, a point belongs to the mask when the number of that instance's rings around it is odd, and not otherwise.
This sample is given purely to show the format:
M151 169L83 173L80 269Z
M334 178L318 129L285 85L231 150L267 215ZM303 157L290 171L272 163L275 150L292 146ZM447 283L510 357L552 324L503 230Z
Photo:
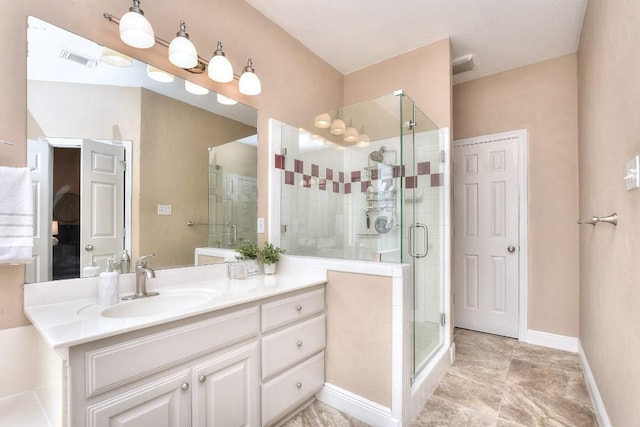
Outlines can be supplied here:
M124 251L171 268L256 240L253 108L34 17L27 36L28 283L92 275Z

